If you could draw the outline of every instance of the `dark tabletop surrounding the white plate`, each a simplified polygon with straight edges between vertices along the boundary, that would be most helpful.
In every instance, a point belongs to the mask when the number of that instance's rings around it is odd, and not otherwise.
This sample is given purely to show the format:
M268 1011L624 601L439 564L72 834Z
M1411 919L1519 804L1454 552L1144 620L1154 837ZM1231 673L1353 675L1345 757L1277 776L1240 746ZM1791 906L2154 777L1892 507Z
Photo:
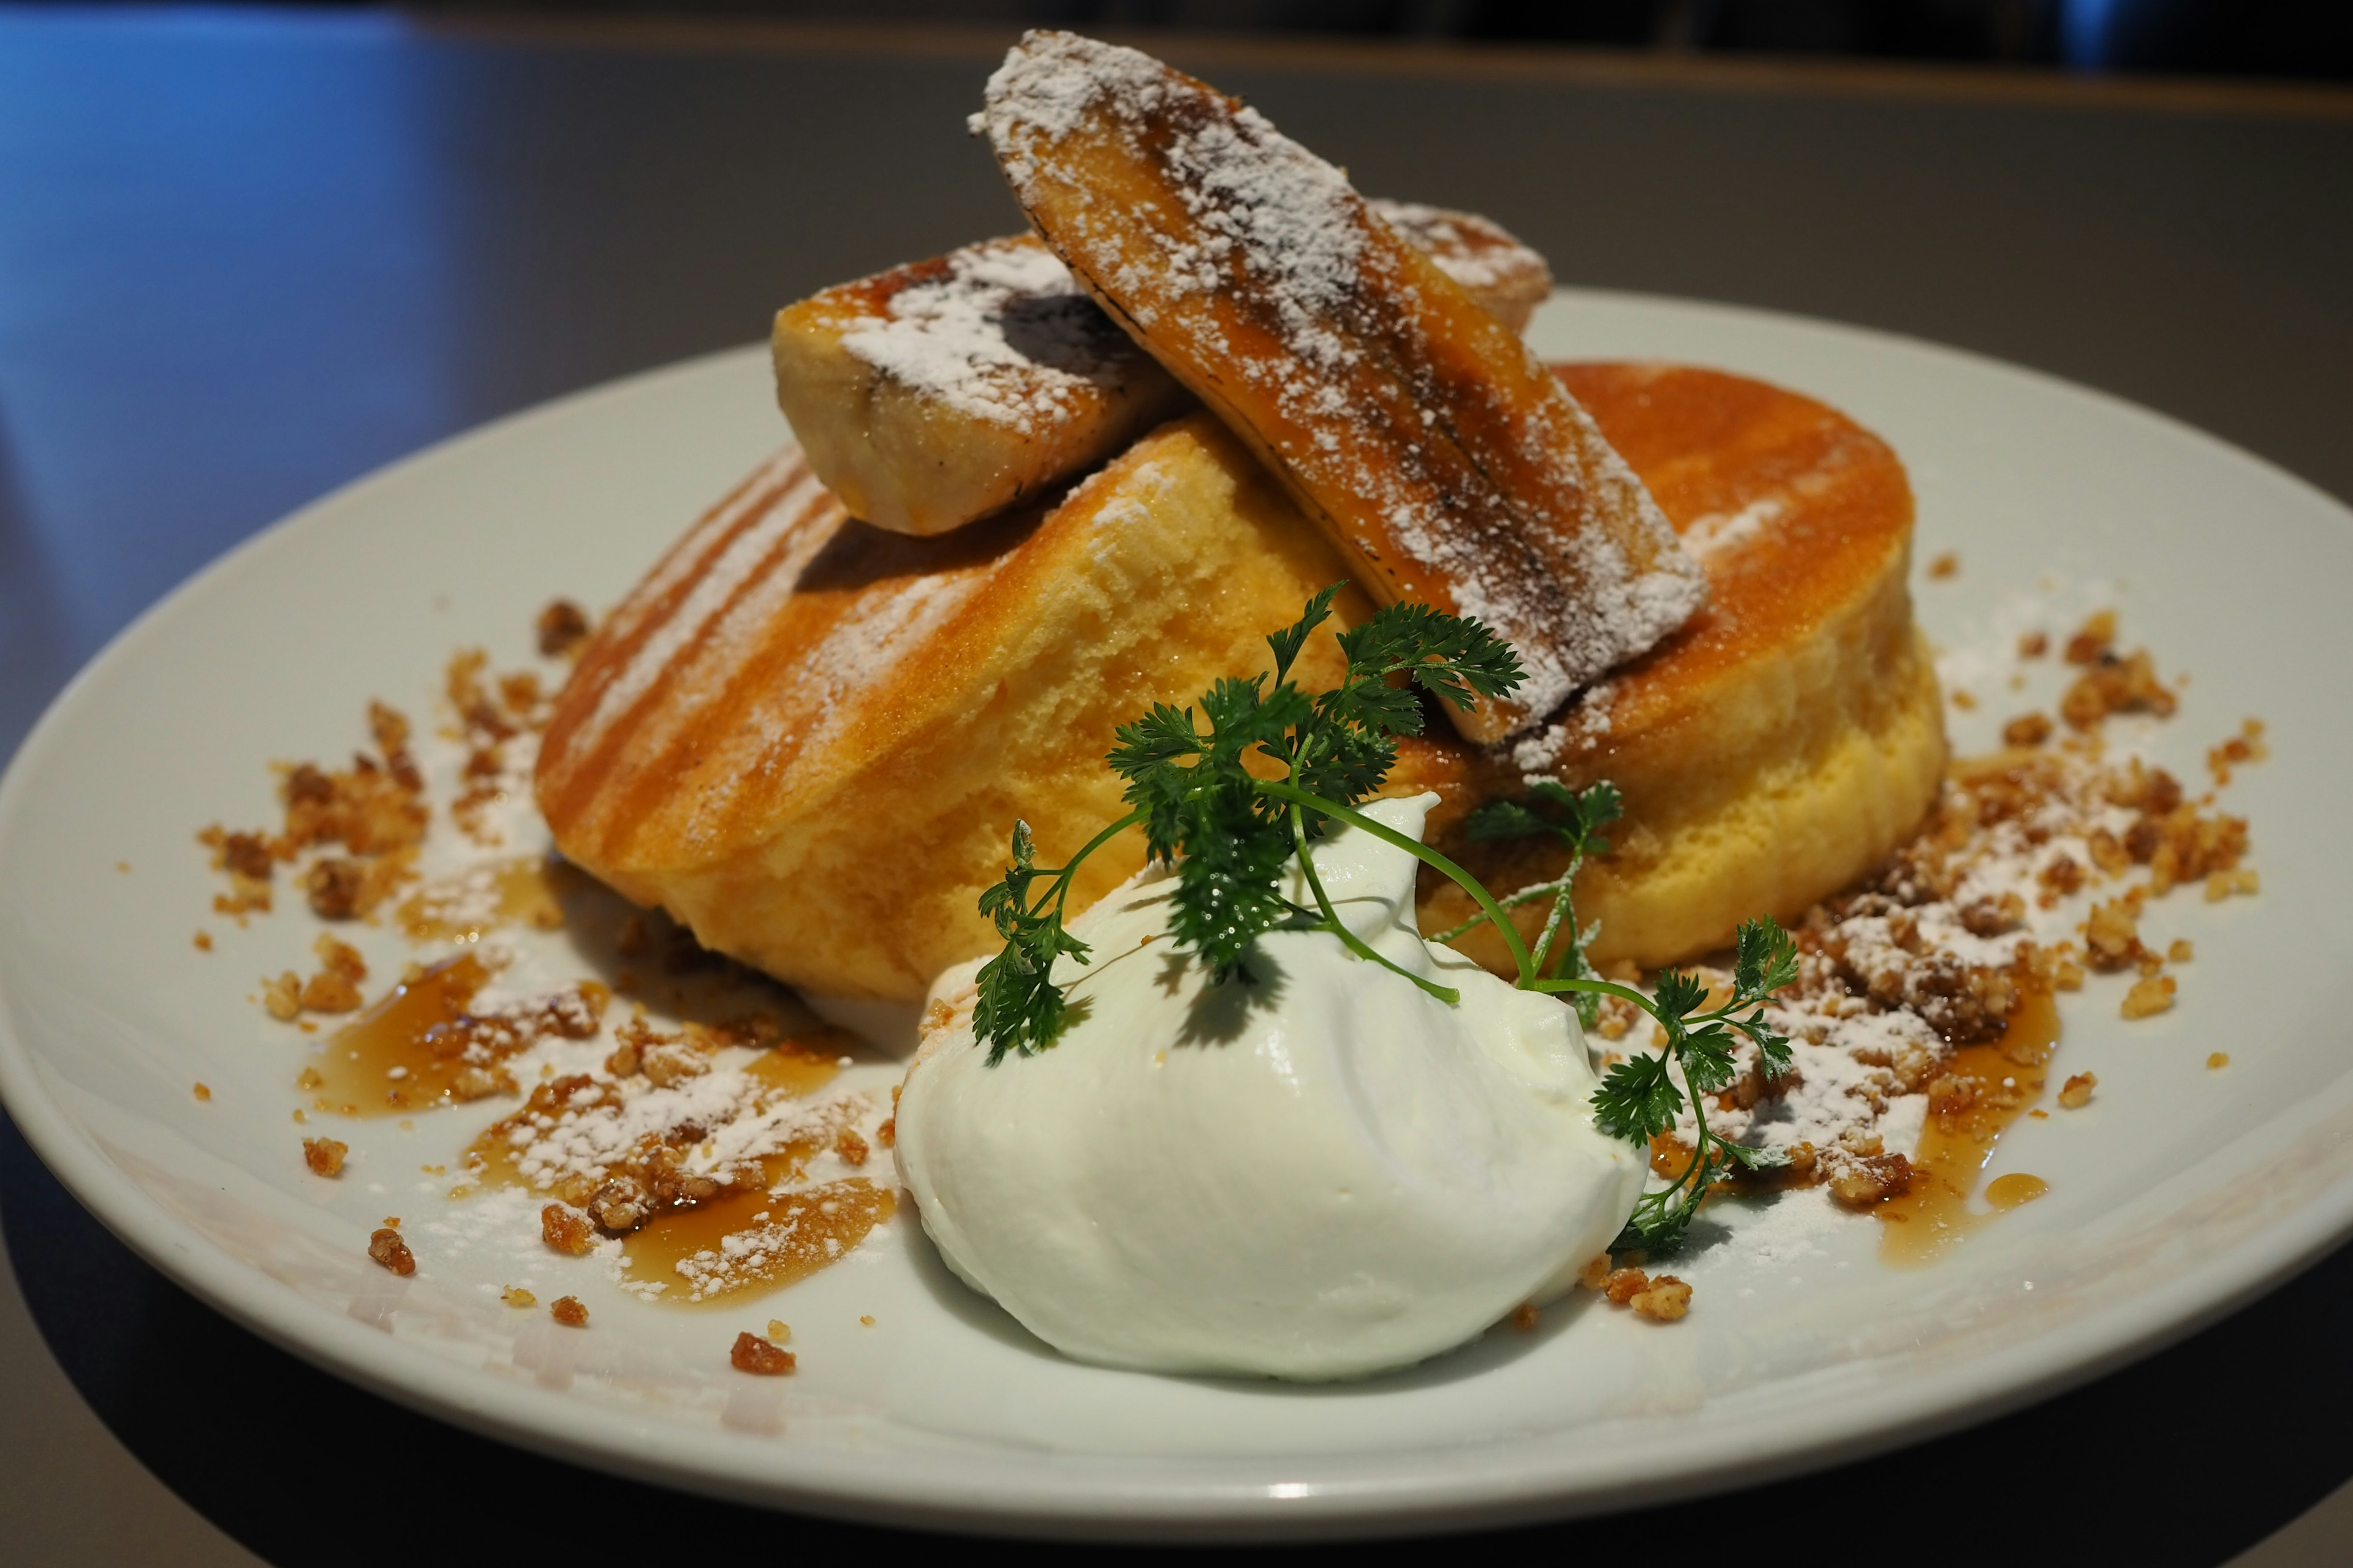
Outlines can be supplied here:
M1016 228L962 136L1005 42L0 9L0 757L146 604L315 494ZM1362 188L1494 214L1567 284L1960 343L2353 496L2353 94L1160 47ZM348 1389L148 1269L5 1119L0 1225L9 1561L887 1544ZM1833 1547L1798 1528L1821 1521L1908 1561L2205 1566L2266 1537L2249 1561L2353 1561L2353 1493L2273 1535L2353 1476L2348 1321L2353 1251L2026 1413L1678 1509L1699 1537L1666 1514L1520 1535L1769 1561ZM494 1502L452 1528L468 1493Z

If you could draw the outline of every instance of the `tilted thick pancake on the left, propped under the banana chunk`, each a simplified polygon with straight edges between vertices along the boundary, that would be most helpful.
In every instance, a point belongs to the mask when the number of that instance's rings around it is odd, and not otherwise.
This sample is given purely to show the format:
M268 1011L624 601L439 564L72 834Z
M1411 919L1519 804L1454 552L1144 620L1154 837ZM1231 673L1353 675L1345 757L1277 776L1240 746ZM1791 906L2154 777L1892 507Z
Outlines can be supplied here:
M704 945L913 1001L991 945L974 900L1016 816L1045 863L1075 851L1125 809L1113 724L1266 668L1266 632L1341 576L1207 414L1059 505L936 538L849 520L786 454L598 630L539 806L572 860ZM1329 639L1308 661L1308 684L1339 679ZM1075 907L1141 853L1089 860Z

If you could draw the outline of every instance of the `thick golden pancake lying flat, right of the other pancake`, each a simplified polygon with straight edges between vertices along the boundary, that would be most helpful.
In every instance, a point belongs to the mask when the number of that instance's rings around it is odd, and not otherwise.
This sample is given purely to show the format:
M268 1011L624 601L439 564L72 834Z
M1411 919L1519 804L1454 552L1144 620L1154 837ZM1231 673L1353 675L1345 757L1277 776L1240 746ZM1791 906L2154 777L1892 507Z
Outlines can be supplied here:
M1645 364L1560 376L1699 555L1708 607L1537 741L1417 745L1398 785L1447 795L1433 842L1501 893L1555 877L1560 858L1471 844L1461 813L1518 795L1527 773L1614 780L1626 820L1579 877L1577 917L1600 919L1595 961L1666 964L1847 886L1934 799L1944 710L1906 588L1911 487L1885 442L1781 388ZM1424 877L1424 929L1471 912L1454 884ZM1534 933L1544 905L1520 914ZM1492 931L1464 947L1506 966Z

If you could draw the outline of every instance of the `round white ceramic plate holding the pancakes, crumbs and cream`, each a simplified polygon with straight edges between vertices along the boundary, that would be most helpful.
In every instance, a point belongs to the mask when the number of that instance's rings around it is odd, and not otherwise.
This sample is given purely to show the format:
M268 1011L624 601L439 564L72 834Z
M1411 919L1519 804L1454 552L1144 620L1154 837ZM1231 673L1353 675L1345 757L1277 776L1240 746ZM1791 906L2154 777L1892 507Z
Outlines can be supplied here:
M2353 778L2337 717L2353 515L2141 409L1901 339L1612 294L1558 296L1534 336L1553 357L1767 376L1894 442L1920 494L1918 557L1962 562L1918 597L1951 672L1988 698L1974 722L2028 698L1972 649L2028 618L2064 632L2106 597L2129 642L2195 677L2158 741L2184 778L2242 715L2271 719L2273 762L2231 792L2254 820L2261 898L2158 905L2153 933L2198 945L2172 1013L2122 1025L2101 980L2075 999L2059 1063L2097 1070L2099 1098L2012 1131L1995 1171L2052 1192L1946 1262L1887 1272L1875 1222L1854 1220L1781 1262L1751 1248L1680 1265L1699 1309L1671 1331L1553 1312L1534 1335L1348 1387L1073 1366L962 1291L906 1220L732 1316L631 1300L595 1265L529 1265L541 1300L555 1284L591 1302L586 1333L499 1307L525 1265L494 1248L421 1246L409 1281L372 1267L360 1246L386 1211L412 1232L447 1218L447 1180L416 1171L494 1112L362 1124L346 1133L355 1168L308 1178L287 1121L299 1046L247 997L254 976L304 964L313 926L202 919L214 877L191 832L268 820L264 759L336 755L369 696L424 708L452 646L522 656L551 595L614 602L781 440L758 350L584 393L353 484L82 672L0 785L12 1114L148 1260L381 1394L727 1497L1059 1535L1501 1523L1760 1481L2052 1394L2344 1237L2353 835L2332 785ZM1986 733L1960 722L1955 741ZM219 952L191 947L198 924ZM2205 1070L2214 1048L2226 1072ZM732 1333L769 1314L793 1321L802 1371L729 1373Z

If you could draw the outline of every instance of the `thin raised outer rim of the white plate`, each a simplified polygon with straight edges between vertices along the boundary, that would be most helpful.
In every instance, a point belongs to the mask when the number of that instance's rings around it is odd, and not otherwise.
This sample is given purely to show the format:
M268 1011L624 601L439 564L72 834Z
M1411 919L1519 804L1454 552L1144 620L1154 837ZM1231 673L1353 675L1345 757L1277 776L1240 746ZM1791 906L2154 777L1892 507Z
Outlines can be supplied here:
M2353 524L2353 508L2341 498L2231 440L2035 367L1901 331L1725 301L1624 289L1555 289L1548 303L1562 301L1602 308L1631 306L1784 331L1800 329L1833 341L1899 348L1974 374L2024 376L2040 390L2082 400L2108 416L2153 425L2169 440L2188 440L2226 456L2266 482L2285 484L2285 489L2318 501L2337 515L2339 524ZM748 362L758 353L762 353L760 346L701 353L501 414L348 480L238 541L108 637L45 705L9 757L7 771L0 773L0 844L7 842L24 811L24 797L31 792L28 780L61 745L59 736L82 696L118 665L136 658L146 639L158 635L158 625L186 599L238 571L252 552L275 548L294 531L329 527L332 512L365 501L374 489L400 484L419 468L452 461L480 444L501 442L520 428L562 421L586 404L642 395L666 381L715 374L720 367ZM1984 1356L1962 1356L1951 1366L1906 1380L1899 1389L1882 1389L1873 1401L1875 1418L1861 1425L1814 1420L1812 1429L1772 1455L1694 1465L1640 1481L1612 1479L1607 1488L1598 1486L1595 1479L1579 1481L1560 1474L1558 1465L1548 1469L1541 1462L1480 1476L1424 1474L1407 1483L1381 1481L1377 1488L1372 1483L1299 1488L1278 1481L1235 1486L1188 1479L1141 1488L1104 1486L1099 1476L1085 1472L1056 1474L1052 1467L1038 1472L1035 1462L1016 1462L1014 1469L1038 1474L1042 1483L1005 1500L991 1490L988 1479L969 1474L955 1486L944 1486L939 1474L911 1481L904 1462L887 1455L861 1460L847 1450L795 1448L784 1465L748 1474L744 1467L699 1462L692 1453L673 1460L605 1448L593 1439L598 1425L579 1422L579 1406L562 1394L529 1385L487 1385L473 1368L341 1314L322 1312L289 1286L205 1241L96 1147L96 1140L47 1091L40 1074L42 1067L35 1063L31 1044L16 1032L9 997L0 992L0 1103L7 1105L42 1164L148 1265L231 1321L334 1378L435 1420L449 1420L496 1441L591 1469L654 1479L680 1490L755 1507L988 1535L1202 1542L1346 1540L1591 1516L1701 1493L1739 1490L1835 1467L1866 1450L1918 1443L2092 1382L2278 1288L2353 1234L2353 1178L2344 1178L2254 1229L2231 1255L2235 1267L2177 1274L2155 1291L2089 1312L2057 1331L2035 1335L2026 1345L2007 1347L1995 1361L2002 1375L1991 1382ZM572 1420L565 1420L567 1413ZM572 1436L567 1427L581 1436ZM1280 1467L1280 1460L1254 1462L1266 1469Z

